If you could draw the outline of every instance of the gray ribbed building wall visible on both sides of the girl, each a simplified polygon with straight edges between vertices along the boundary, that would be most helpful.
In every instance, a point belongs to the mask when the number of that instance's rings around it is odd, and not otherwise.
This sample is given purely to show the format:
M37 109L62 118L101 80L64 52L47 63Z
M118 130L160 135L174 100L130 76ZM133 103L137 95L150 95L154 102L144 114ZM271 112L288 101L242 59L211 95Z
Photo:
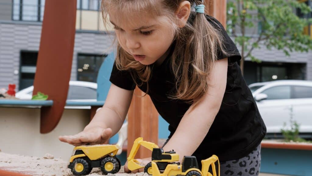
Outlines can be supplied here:
M38 51L41 25L38 22L0 21L0 88L14 83L18 90L19 74L14 71L19 71L20 51ZM71 80L77 78L77 54L108 54L112 50L112 39L113 36L107 34L76 32ZM306 63L306 68L301 69L306 72L305 78L312 81L312 52L295 52L287 57L282 51L262 47L254 50L253 55L267 62Z

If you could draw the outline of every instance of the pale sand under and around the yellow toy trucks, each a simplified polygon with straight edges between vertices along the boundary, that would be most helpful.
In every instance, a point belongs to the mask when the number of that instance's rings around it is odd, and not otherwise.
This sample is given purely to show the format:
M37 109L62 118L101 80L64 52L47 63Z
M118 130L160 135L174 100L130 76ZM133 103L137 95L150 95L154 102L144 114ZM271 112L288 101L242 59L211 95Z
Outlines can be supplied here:
M51 159L48 159L51 158ZM0 169L23 173L33 176L72 176L71 169L67 168L69 161L54 158L47 153L40 158L8 154L0 152ZM102 175L100 168L94 168L88 176ZM116 174L108 176L149 176L147 173L124 173L124 167Z

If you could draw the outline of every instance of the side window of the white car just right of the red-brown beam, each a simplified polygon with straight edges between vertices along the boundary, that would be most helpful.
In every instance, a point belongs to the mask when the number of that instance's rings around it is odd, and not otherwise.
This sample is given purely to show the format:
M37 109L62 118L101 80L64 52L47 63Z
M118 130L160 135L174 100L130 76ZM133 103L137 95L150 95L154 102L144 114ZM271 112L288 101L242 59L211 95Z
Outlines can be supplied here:
M80 100L80 99L96 99L96 89L82 87L82 86L69 86L67 99Z

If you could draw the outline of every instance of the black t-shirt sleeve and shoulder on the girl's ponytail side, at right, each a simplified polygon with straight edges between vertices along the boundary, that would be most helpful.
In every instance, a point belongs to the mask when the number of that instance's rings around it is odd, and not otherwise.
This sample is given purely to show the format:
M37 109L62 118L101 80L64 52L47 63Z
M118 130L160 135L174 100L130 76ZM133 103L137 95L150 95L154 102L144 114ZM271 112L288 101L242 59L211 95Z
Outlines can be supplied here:
M223 41L222 41L223 47L225 51L228 53L228 54L224 54L219 49L217 59L219 60L223 58L228 58L229 63L235 63L241 60L241 54L239 53L235 43L227 34L227 31L224 29L223 25L216 18L213 18L212 16L206 15L206 18L208 22L212 24L212 26L220 30L221 35L223 37Z

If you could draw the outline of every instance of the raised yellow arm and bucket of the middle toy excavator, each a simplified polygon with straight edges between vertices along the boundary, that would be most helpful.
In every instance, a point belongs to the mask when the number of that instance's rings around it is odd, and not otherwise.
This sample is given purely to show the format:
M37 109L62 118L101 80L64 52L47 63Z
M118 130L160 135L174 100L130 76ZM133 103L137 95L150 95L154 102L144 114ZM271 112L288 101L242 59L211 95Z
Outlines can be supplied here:
M133 146L131 148L130 154L127 158L128 169L131 171L137 170L139 168L144 168L144 166L142 166L139 161L134 159L134 157L135 157L136 153L138 152L141 145L144 146L145 148L149 149L150 151L153 151L153 148L159 148L158 145L156 145L152 142L144 141L143 138L135 139Z

